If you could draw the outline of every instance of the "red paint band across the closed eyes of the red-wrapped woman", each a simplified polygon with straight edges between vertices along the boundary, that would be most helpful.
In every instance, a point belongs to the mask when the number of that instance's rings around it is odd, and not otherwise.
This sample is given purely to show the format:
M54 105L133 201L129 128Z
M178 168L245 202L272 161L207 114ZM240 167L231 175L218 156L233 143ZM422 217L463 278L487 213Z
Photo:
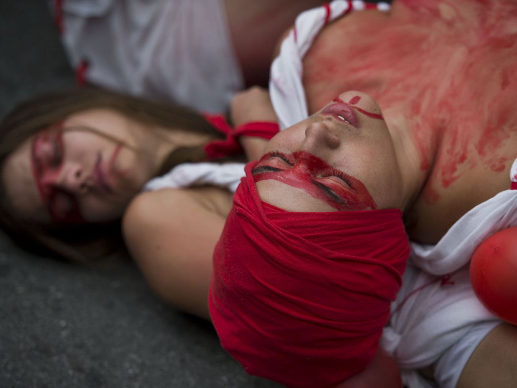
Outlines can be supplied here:
M263 172L260 172L260 168ZM267 171L267 167L278 171ZM306 152L268 153L253 171L255 182L272 179L301 188L310 196L339 210L374 210L375 201L361 181L330 167L322 159Z

